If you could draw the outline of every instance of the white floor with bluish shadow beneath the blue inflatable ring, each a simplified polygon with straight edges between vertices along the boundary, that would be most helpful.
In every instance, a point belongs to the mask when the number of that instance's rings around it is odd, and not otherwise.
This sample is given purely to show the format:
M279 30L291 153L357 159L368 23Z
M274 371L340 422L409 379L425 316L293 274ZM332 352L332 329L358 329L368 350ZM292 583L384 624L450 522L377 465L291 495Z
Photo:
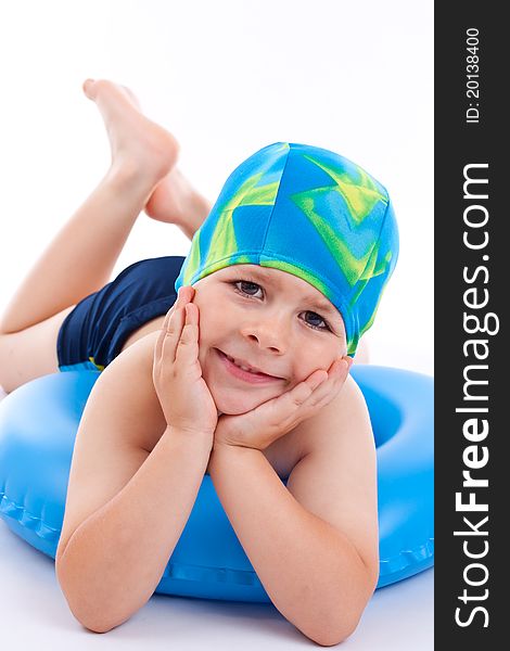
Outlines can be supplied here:
M128 622L107 634L84 628L68 610L54 562L15 536L0 520L0 648L89 650L204 648L265 651L317 648L271 604L153 596ZM433 582L428 570L377 590L346 651L433 649Z

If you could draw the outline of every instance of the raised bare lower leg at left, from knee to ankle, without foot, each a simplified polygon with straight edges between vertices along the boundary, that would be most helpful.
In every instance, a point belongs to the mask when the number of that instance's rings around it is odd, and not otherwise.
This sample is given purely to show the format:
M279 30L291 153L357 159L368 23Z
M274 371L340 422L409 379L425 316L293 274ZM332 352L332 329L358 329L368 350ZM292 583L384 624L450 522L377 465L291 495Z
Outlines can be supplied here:
M42 253L5 309L0 330L18 332L107 282L151 188L109 173Z

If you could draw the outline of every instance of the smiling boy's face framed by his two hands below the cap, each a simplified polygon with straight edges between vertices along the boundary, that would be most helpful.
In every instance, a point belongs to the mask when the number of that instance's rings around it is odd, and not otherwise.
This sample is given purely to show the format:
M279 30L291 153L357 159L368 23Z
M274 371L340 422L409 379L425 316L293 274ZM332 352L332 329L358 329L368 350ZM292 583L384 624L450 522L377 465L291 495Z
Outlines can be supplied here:
M221 413L250 411L346 355L340 312L296 276L232 265L193 288L200 310L199 361ZM221 353L271 378L250 382Z

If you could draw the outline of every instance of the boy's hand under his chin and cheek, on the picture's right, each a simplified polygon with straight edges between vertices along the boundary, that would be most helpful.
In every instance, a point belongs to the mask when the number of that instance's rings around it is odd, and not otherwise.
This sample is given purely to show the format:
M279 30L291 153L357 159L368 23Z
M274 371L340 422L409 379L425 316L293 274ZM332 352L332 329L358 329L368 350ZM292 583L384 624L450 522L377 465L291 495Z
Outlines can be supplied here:
M221 414L214 444L266 449L328 405L342 388L352 363L350 357L336 359L328 371L314 371L294 388L246 413Z

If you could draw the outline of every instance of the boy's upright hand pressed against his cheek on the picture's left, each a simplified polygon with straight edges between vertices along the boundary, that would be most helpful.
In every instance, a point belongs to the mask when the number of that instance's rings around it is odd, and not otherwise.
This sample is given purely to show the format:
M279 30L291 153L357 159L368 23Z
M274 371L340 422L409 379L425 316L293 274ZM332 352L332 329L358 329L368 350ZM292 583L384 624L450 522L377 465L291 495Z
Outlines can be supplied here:
M152 378L166 422L190 434L211 436L218 410L199 361L199 308L194 289L181 288L154 346Z

